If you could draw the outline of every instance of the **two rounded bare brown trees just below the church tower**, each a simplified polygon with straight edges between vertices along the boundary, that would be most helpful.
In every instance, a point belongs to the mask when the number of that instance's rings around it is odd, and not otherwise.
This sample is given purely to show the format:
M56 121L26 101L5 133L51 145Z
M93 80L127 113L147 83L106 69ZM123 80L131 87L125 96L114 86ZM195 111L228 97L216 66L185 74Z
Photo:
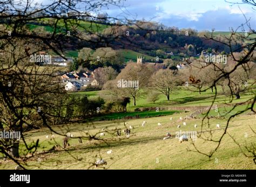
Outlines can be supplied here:
M118 82L122 80L131 83L137 82L138 87L124 86L120 88ZM153 64L152 66L146 66L146 64L130 62L122 69L116 79L106 82L103 89L106 90L106 95L130 97L133 99L133 105L136 105L137 98L146 95L151 88L164 93L167 100L170 100L170 93L179 82L177 71L170 69L157 71Z

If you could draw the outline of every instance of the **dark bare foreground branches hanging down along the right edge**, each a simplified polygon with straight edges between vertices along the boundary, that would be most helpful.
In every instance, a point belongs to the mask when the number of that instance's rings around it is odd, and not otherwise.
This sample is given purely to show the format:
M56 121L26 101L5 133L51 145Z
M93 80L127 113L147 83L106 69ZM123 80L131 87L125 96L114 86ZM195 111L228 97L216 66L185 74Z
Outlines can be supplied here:
M241 3L247 3L252 4L255 6L254 1L242 1ZM201 149L196 143L192 142L193 148L190 149L193 152L197 152L203 155L206 155L209 159L214 155L215 152L220 147L221 142L224 140L224 136L226 134L230 135L232 139L234 140L234 143L236 143L239 147L241 152L247 156L252 157L255 163L255 143L250 143L250 145L242 145L241 142L238 142L238 140L235 140L235 138L228 133L228 129L230 127L230 123L232 119L239 114L245 113L247 111L251 111L253 114L255 114L255 92L253 91L253 86L255 85L255 78L251 78L250 83L248 78L253 77L252 72L255 72L255 47L256 42L255 38L253 38L252 34L255 34L255 31L250 26L250 19L247 19L245 17L246 22L241 24L236 30L232 30L230 36L224 37L226 41L218 40L213 37L213 34L211 37L206 37L208 40L217 41L220 44L224 44L228 46L230 49L230 53L228 53L228 56L230 60L227 61L227 67L225 66L218 66L217 63L212 63L212 66L214 66L214 70L218 72L217 76L212 81L212 85L210 87L207 87L201 91L206 91L208 89L213 88L214 90L214 98L211 106L209 107L209 110L206 112L202 123L201 123L201 129L198 133L198 138L210 142L213 145L213 148L210 150L203 150ZM244 29L247 27L247 30L250 32L245 33L239 33L239 29ZM241 47L236 47L236 44L240 42ZM237 52L241 52L240 55L236 55ZM215 50L215 53L217 55L222 55L218 50ZM253 62L254 61L254 62ZM191 63L191 62L188 62ZM253 64L253 66L251 66ZM201 69L204 69L204 67L201 67ZM232 101L234 99L234 96L236 98L240 98L239 93L243 90L245 90L245 81L248 80L248 84L246 84L246 91L247 93L250 93L250 98L246 99L244 102L239 102L232 104ZM223 82L224 81L224 82ZM229 109L226 109L225 114L222 117L225 117L226 124L224 125L223 131L220 132L220 135L215 136L215 133L212 129L210 131L205 131L205 128L209 128L212 125L212 119L210 115L211 109L213 109L213 106L217 104L216 98L219 93L218 85L224 85L224 90L228 95L230 95L228 103L226 105L231 106ZM246 106L245 109L238 110L239 106ZM237 111L237 112L234 112ZM230 114L229 116L226 116L226 114ZM249 126L249 124L248 124ZM251 127L251 126L250 126ZM251 127L251 130L255 133L255 130L253 130L253 127Z

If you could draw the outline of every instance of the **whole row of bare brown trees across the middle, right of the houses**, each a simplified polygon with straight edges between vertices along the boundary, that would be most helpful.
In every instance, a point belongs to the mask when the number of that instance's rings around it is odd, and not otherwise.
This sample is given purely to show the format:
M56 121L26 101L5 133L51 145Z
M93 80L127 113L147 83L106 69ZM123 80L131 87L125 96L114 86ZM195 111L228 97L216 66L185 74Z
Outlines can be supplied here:
M235 53L239 56L241 53ZM250 80L255 79L256 65L254 62L248 63L246 67L240 67L237 71L230 75L230 79L225 77L215 82L223 71L231 71L235 66L235 62L228 58L228 64L223 63L206 63L205 61L190 59L190 63L184 69L171 70L172 60L166 60L169 68L156 70L154 67L145 64L136 64L130 62L122 69L116 79L108 81L104 84L103 89L109 90L109 94L114 97L123 96L133 99L133 105L136 105L138 97L147 95L152 90L163 93L167 100L170 100L171 92L177 86L192 86L198 89L199 94L205 88L213 89L216 85L222 88L226 96L235 96L240 98L240 93L248 89L247 84ZM118 81L138 81L138 88L119 88ZM186 88L186 87L185 87ZM190 87L188 87L190 88ZM152 97L152 94L151 94ZM156 97L155 97L156 98Z

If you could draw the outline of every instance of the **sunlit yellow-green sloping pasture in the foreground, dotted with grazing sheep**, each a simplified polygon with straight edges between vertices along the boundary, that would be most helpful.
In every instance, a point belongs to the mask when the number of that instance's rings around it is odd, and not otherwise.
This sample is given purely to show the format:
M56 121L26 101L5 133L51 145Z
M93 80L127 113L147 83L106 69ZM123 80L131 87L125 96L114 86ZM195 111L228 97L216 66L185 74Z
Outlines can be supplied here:
M176 134L181 131L198 131L194 128L194 124L200 125L201 119L187 120L187 125L182 125L183 120L179 117L185 117L185 113L171 116L156 117L147 119L134 119L127 121L129 125L133 125L134 129L131 135L127 138L123 133L120 140L116 136L112 136L105 132L105 136L100 139L108 140L83 140L82 144L77 143L77 139L70 140L70 147L66 150L44 153L43 150L49 150L55 141L61 143L62 138L55 134L55 140L46 139L45 135L49 135L49 130L31 131L28 136L30 141L39 139L41 146L38 149L39 154L28 162L29 169L87 169L92 166L97 158L102 157L107 161L107 169L256 169L252 159L245 157L233 140L228 136L224 136L224 140L220 145L220 149L209 160L207 156L196 152L190 152L187 149L194 150L192 140L179 143L175 138ZM231 121L228 133L234 136L235 140L242 142L246 141L248 145L255 142L255 134L252 133L248 124L252 127L255 125L256 116L239 116ZM146 120L146 125L141 126L142 121ZM220 136L226 126L225 119L212 119L211 126L214 130L214 137ZM162 126L158 126L161 123ZM216 124L220 124L221 128L217 129ZM178 129L177 125L181 125ZM69 125L69 130L60 130L60 127L55 127L57 132L71 132L74 137L85 135L85 133L97 133L102 128L111 130L116 127L124 128L122 121L103 121L91 124L72 124ZM253 127L254 131L255 126ZM167 132L173 136L171 139L163 140ZM245 138L245 133L248 136ZM203 141L199 138L194 140L194 143L203 152L210 152L216 145ZM106 154L107 150L112 150L112 154ZM22 150L22 147L21 147ZM38 159L40 162L38 162ZM0 169L14 169L16 164L12 161L2 161ZM91 167L90 169L95 169ZM100 169L100 168L99 168Z

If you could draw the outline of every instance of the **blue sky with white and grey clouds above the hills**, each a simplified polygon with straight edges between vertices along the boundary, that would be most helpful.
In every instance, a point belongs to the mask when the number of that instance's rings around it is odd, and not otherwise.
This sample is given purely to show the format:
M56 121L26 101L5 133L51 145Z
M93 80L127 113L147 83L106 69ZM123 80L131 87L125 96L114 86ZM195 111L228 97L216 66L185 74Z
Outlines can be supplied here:
M48 0L43 2L45 1ZM211 31L213 28L215 31L230 31L231 28L235 30L245 23L244 13L250 19L251 27L256 28L256 7L253 10L252 5L248 4L232 5L225 0L123 0L123 4L123 8L110 6L108 10L101 11L111 17L144 18L166 26L193 28L198 31ZM248 27L245 27L245 31L248 31Z

